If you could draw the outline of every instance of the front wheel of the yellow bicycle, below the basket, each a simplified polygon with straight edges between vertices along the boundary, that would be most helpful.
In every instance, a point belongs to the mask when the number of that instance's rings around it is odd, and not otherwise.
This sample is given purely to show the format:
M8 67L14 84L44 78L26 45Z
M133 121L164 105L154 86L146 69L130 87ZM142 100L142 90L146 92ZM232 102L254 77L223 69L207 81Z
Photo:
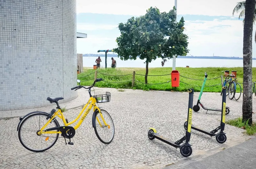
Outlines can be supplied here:
M96 124L94 131L98 139L104 144L111 143L115 135L115 127L108 112L100 109L100 113L97 111L93 120Z

